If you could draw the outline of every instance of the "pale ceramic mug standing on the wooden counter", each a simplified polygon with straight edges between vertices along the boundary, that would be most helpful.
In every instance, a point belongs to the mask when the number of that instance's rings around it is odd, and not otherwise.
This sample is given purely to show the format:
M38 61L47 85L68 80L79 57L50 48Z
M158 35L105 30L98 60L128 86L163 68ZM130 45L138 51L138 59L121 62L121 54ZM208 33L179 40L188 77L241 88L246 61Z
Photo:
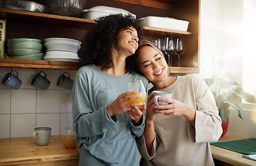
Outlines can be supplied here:
M33 137L37 140L37 145L48 145L51 138L51 127L36 127Z

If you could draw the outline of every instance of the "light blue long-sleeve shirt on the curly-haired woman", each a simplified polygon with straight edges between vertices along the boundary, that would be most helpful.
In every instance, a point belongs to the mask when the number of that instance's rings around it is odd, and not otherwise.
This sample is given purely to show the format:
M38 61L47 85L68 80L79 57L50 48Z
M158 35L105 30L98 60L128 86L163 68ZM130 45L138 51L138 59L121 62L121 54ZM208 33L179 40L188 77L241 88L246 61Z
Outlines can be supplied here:
M80 147L80 165L139 165L140 153L134 136L140 137L143 123L134 126L127 112L112 117L107 106L125 93L125 82L147 79L138 74L109 75L94 65L77 71L73 96L73 128ZM83 155L81 155L83 154Z

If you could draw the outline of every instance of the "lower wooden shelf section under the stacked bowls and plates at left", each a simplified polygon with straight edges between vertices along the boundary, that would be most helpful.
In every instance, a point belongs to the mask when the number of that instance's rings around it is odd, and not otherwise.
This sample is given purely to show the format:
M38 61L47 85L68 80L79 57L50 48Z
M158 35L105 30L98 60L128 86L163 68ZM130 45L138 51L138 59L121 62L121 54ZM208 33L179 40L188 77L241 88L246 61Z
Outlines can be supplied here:
M0 66L17 68L78 70L82 65L79 62L0 58Z

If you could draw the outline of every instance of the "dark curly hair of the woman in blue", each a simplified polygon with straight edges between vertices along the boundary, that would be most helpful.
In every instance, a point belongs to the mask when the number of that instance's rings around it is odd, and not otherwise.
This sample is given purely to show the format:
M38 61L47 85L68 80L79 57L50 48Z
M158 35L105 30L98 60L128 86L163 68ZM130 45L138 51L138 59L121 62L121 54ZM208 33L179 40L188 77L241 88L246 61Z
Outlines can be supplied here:
M137 30L140 39L142 28L134 20L132 15L122 14L96 19L97 24L84 35L81 48L78 50L82 65L95 64L102 66L102 69L111 68L113 66L111 48L117 46L120 30L133 27Z

